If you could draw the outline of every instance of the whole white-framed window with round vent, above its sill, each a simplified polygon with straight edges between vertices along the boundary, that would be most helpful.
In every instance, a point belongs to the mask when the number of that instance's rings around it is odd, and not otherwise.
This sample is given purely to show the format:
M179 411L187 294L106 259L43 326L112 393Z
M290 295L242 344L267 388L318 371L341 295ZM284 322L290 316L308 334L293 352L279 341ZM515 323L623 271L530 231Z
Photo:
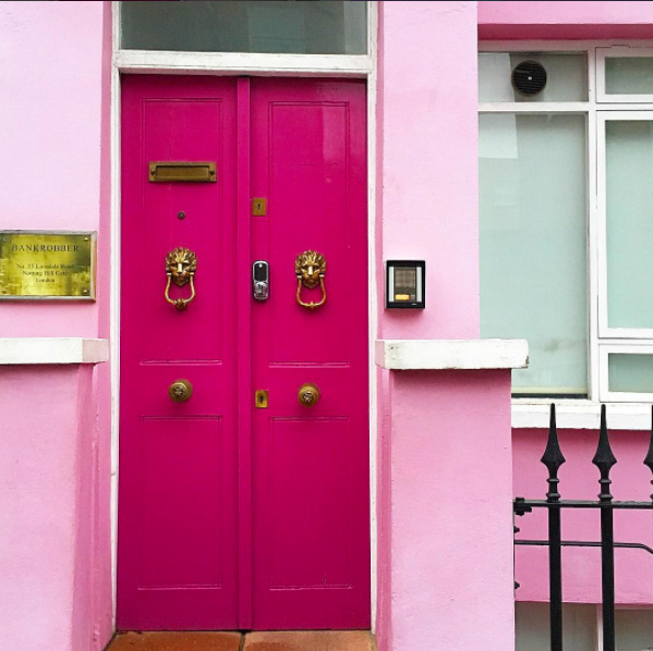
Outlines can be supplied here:
M570 45L480 52L481 335L516 397L650 402L653 48Z

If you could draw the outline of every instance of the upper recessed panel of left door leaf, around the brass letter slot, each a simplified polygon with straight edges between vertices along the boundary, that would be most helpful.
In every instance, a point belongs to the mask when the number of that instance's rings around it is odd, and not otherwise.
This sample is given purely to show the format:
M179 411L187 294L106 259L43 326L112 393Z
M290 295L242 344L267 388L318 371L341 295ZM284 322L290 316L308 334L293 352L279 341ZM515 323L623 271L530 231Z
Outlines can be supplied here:
M143 155L142 172L147 169L148 161L170 161L181 158L188 161L202 161L213 156L215 160L223 143L233 138L232 124L228 124L226 133L221 133L220 123L226 119L221 98L193 99L150 99L143 101ZM233 111L233 108L231 108ZM233 115L231 115L233 120ZM166 134L166 135L164 135ZM233 155L232 155L233 156ZM233 172L228 169L233 164L219 161L217 165L217 184L170 183L145 185L143 196L144 237L136 255L143 259L143 293L148 309L143 310L143 361L221 361L221 332L223 304L221 300L207 300L204 297L210 292L225 293L225 274L232 272L225 269L233 266L233 259L225 259L223 247L232 246L219 233L220 220L233 219L233 206L227 207L223 183L232 180ZM227 175L227 177L226 177ZM227 188L233 195L233 188ZM230 197L231 202L234 197ZM223 210L228 208L227 216ZM179 211L185 213L180 220ZM233 224L223 224L233 229ZM211 232L213 231L213 232ZM193 245L190 239L193 239ZM169 246L166 249L166 246ZM161 302L161 273L165 254L176 246L192 248L199 258L196 285L198 300L193 310L179 315L170 309L170 305ZM134 247L136 248L136 247ZM199 248L199 250L198 250ZM138 250L140 249L140 250ZM161 251L164 251L161 254ZM204 255L203 255L204 254ZM204 290L204 291L203 291ZM171 296L186 295L188 290L172 286ZM191 317L189 317L191 315ZM183 319L183 321L182 321ZM185 322L210 323L211 327L202 332L202 336L170 336Z

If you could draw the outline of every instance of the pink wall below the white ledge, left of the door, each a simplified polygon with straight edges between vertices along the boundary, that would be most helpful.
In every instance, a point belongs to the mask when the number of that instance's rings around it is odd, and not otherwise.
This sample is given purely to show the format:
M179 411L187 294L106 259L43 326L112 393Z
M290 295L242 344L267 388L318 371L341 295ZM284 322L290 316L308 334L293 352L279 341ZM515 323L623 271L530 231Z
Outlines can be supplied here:
M0 648L87 651L93 367L0 369ZM35 408L38 405L39 408ZM83 549L86 548L86 549Z

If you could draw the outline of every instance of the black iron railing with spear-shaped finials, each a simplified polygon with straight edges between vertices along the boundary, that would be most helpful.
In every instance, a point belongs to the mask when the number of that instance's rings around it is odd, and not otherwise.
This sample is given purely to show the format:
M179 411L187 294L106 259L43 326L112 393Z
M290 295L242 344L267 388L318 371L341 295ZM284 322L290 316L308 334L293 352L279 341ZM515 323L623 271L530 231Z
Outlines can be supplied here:
M653 410L652 410L653 418ZM551 423L548 441L542 456L542 463L548 469L548 491L546 500L524 500L516 498L513 512L517 516L531 513L533 508L546 508L548 512L548 540L515 540L516 545L543 545L548 546L548 586L551 601L551 651L563 651L563 548L564 546L600 546L601 548L601 588L603 606L603 651L615 650L615 548L641 549L653 554L653 549L638 542L615 542L613 515L615 509L653 509L652 502L619 502L613 500L610 494L609 472L617 463L613 454L605 420L605 405L601 406L601 430L598 446L592 463L598 468L598 486L601 492L597 501L591 500L561 500L558 491L558 470L565 463L560 451L558 431L556 427L556 408L551 406ZM644 457L651 472L653 472L653 421L651 428L651 443ZM653 483L653 480L651 481ZM601 542L563 540L561 515L566 508L598 508L601 509ZM515 527L515 533L519 528ZM519 588L519 584L515 584Z

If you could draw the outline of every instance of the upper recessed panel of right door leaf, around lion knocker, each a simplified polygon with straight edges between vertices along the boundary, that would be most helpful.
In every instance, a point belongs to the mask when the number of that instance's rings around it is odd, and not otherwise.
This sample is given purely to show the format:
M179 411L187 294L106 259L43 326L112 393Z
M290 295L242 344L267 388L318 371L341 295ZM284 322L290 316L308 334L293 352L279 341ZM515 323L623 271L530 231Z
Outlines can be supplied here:
M269 138L269 149L262 152L261 160L261 165L267 163L268 168L269 210L274 216L270 219L275 220L268 241L269 249L278 253L281 265L285 262L281 269L275 267L276 275L283 274L275 279L275 284L278 287L290 279L288 286L293 286L294 257L306 248L318 248L327 259L329 293L329 307L319 310L319 316L298 309L291 292L285 295L291 300L276 299L270 304L269 361L274 365L348 364L349 328L347 319L341 318L343 297L350 292L348 270L352 269L351 251L346 245L350 217L347 186L353 172L347 164L348 106L341 101L311 103L299 98L268 103L269 133L259 136L257 130L266 126L255 123L253 144L256 147L259 137ZM255 112L254 119L257 116ZM262 171L262 167L256 165L255 173ZM365 260L363 256L361 261ZM314 298L312 292L305 292L309 300ZM313 293L318 294L318 290Z

